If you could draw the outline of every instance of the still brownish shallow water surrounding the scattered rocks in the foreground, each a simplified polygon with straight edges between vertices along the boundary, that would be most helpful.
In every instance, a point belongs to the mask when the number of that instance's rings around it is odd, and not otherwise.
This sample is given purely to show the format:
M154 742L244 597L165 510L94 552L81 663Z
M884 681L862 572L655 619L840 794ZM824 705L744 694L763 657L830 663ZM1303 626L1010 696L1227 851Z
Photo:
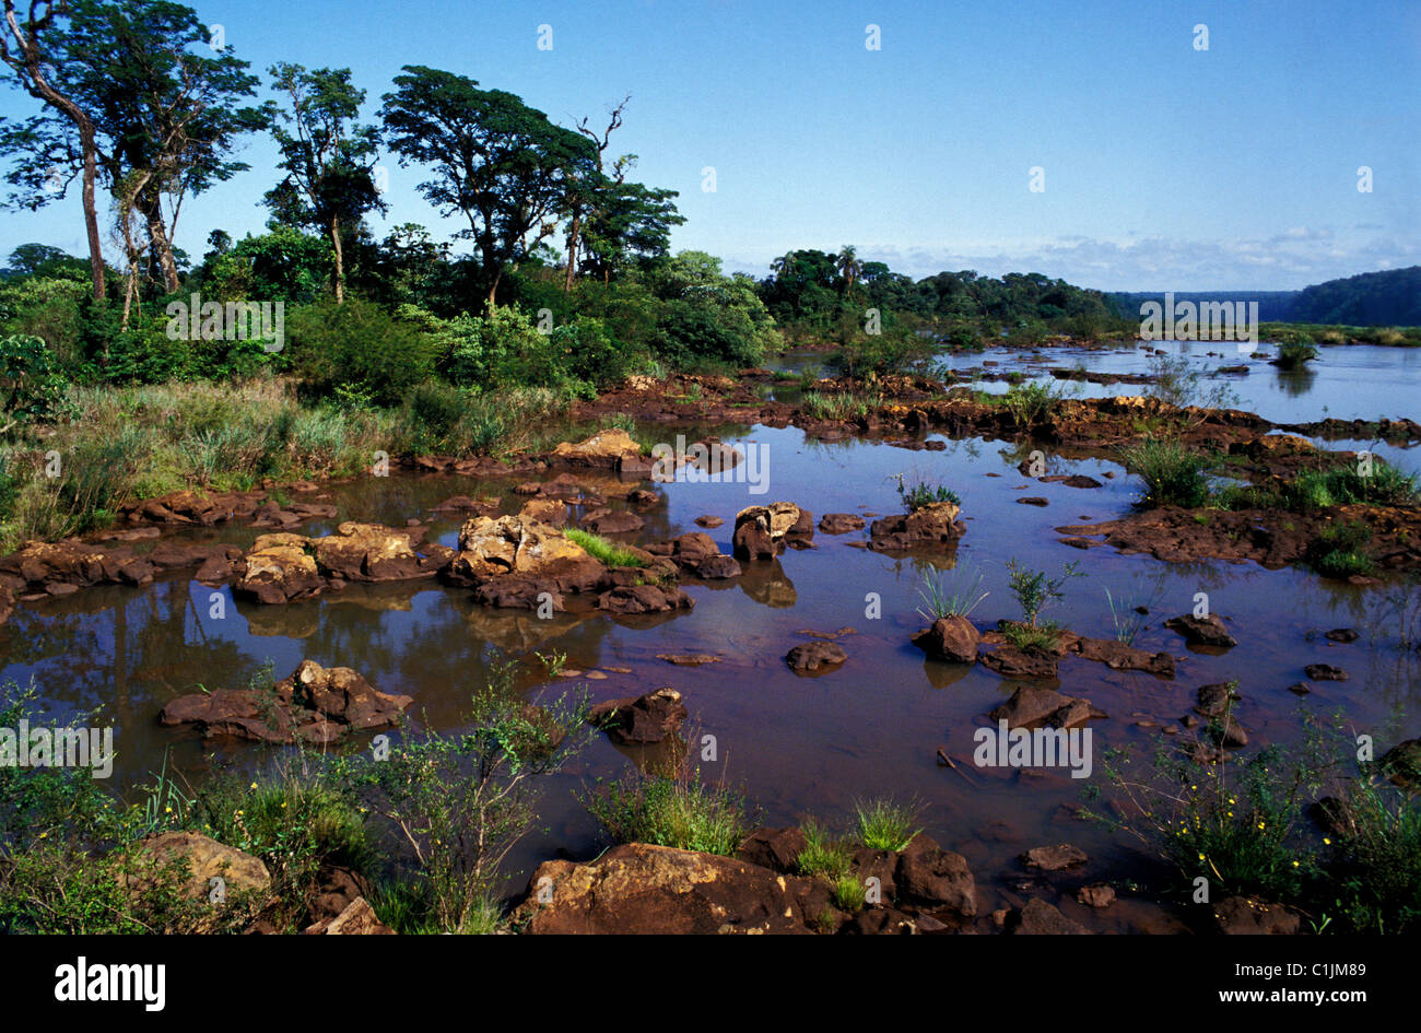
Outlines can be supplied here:
M1053 527L1124 513L1134 485L1118 466L1096 459L1052 458L1053 473L1090 473L1104 487L1081 490L1037 483L1016 470L1022 453L1009 443L968 439L942 452L912 452L882 443L817 445L796 429L722 429L728 440L769 449L769 492L750 494L745 483L661 485L664 504L647 517L632 540L651 541L701 530L695 517L710 513L726 523L709 531L730 551L735 513L747 504L786 499L816 514L880 513L899 509L892 475L922 475L962 496L968 531L955 554L891 557L854 548L864 531L816 533L814 548L789 551L773 564L747 564L742 578L689 585L696 607L672 618L614 620L600 614L558 615L539 621L527 611L477 607L466 590L433 581L351 587L344 593L286 607L234 602L220 590L225 620L209 617L215 590L178 577L146 588L97 588L21 607L0 628L0 678L34 683L55 715L102 705L115 725L119 759L115 783L132 784L156 770L165 752L192 777L206 766L205 747L189 730L163 729L162 706L198 685L240 686L264 664L284 676L303 658L345 665L377 688L415 698L419 723L448 729L459 722L469 692L482 685L500 655L526 658L522 685L533 693L576 689L580 679L547 683L534 651L567 654L567 666L591 671L631 668L587 681L594 699L639 695L674 685L685 696L693 726L715 735L719 762L702 764L710 779L743 786L772 824L816 814L847 818L855 797L917 800L921 823L944 845L965 854L978 881L1000 892L1022 878L1016 857L1034 845L1071 841L1090 853L1091 874L1140 871L1130 844L1077 820L1073 808L1083 787L1101 781L1104 750L1131 745L1148 753L1160 725L1187 713L1199 685L1238 679L1243 696L1236 716L1253 743L1290 743L1300 735L1299 709L1331 713L1344 708L1358 730L1378 746L1414 736L1414 716L1395 723L1398 710L1417 712L1417 658L1397 648L1394 622L1378 618L1388 588L1360 590L1324 581L1302 570L1266 571L1256 566L1198 563L1172 566L1151 557L1125 557L1108 548L1087 553L1057 541ZM1114 479L1104 479L1111 472ZM990 476L1000 475L1000 476ZM330 487L340 520L377 520L399 526L429 516L452 494L506 492L506 482L452 476L392 476ZM1044 496L1046 509L1016 504L1020 494ZM516 502L509 499L510 509ZM330 524L313 524L320 533ZM453 544L458 520L436 520L431 539ZM193 537L247 541L250 529L193 531ZM925 621L915 612L922 571L931 566L979 573L990 594L973 612L979 627L1019 617L1006 588L1005 563L1057 573L1080 561L1087 577L1069 584L1069 597L1044 615L1084 635L1114 634L1106 602L1117 607L1152 600L1148 627L1135 645L1168 649L1184 658L1178 675L1164 681L1121 674L1067 658L1060 691L1086 696L1110 718L1093 723L1093 779L1066 772L1006 773L939 767L939 746L959 760L972 753L972 735L985 715L1016 683L982 666L925 661L909 644ZM1161 625L1189 612L1195 594L1209 594L1211 608L1231 618L1241 645L1221 655L1191 652ZM881 617L865 615L865 597L877 593ZM848 662L821 678L800 678L784 664L790 647L807 641L804 629L851 627L841 639ZM1353 627L1361 638L1333 645L1322 631ZM722 662L672 666L657 654L706 652ZM1317 682L1302 701L1287 686L1303 679L1303 666L1344 666L1347 682ZM220 747L240 763L259 763L257 747ZM590 857L601 845L594 823L574 790L600 776L624 770L627 755L598 737L571 769L550 780L543 824L522 844L510 864L510 889L519 889L539 861L566 850ZM1128 909L1111 922L1128 924Z

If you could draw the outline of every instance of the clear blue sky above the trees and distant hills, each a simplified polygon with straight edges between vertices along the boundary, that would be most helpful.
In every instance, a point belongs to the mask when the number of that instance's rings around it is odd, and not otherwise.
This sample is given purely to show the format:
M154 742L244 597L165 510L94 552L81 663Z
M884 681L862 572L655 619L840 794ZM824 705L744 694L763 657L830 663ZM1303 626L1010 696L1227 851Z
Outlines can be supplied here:
M595 125L681 190L674 246L763 274L793 247L912 276L1040 271L1103 290L1289 290L1421 263L1421 3L770 3L203 0L263 74L351 67L379 95L405 64ZM1196 24L1208 50L1195 50ZM539 27L553 48L539 50ZM881 50L865 47L880 27ZM30 114L0 92L0 114ZM186 202L178 243L261 232L274 149ZM1357 190L1357 169L1373 192ZM391 210L446 236L385 161ZM702 190L713 166L716 190ZM1044 171L1033 193L1029 171ZM6 215L0 254L82 253L77 190ZM115 249L117 250L117 249Z

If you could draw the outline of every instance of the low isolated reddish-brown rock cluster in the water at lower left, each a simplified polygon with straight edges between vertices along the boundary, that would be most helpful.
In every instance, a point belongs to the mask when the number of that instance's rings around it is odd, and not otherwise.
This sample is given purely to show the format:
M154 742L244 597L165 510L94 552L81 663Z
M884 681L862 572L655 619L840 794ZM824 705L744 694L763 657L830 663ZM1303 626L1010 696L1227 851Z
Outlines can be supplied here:
M270 689L215 689L168 703L163 725L193 725L205 737L324 746L351 732L388 728L415 701L379 692L350 668L303 661Z

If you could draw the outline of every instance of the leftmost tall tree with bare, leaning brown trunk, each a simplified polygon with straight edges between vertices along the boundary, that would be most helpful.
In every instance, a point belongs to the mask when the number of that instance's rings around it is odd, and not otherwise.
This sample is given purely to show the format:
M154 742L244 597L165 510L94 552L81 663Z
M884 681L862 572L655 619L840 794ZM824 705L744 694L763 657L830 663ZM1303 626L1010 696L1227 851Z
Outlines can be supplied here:
M98 234L98 207L94 189L98 180L98 148L95 144L94 118L74 97L55 84L57 68L64 60L64 43L63 34L55 26L54 16L54 4L50 0L31 0L28 11L21 21L16 11L14 0L4 0L4 26L0 28L0 61L4 61L16 74L20 87L27 94L48 105L58 118L65 119L72 126L74 135L78 139L77 156L67 146L55 156L65 158L64 165L67 168L72 168L75 163L80 168L84 232L88 237L94 300L102 301L105 296L104 246ZM34 119L31 119L31 125L24 126L18 132L31 138L34 144L44 144L45 146L68 144L64 136L53 132L44 134L41 126L33 125L33 122ZM9 126L7 132L10 132ZM30 169L34 173L34 179L43 183L41 189L48 188L54 182L50 172L51 168L57 166L40 165ZM33 205L33 207L38 207L43 203L41 200Z

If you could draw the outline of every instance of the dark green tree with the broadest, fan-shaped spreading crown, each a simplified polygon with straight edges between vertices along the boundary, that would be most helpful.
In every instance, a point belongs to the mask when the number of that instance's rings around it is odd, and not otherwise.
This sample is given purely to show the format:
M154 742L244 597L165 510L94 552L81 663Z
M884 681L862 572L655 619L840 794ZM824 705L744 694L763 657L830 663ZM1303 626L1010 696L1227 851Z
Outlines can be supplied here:
M513 94L423 65L404 72L381 108L389 144L402 166L431 166L419 190L441 215L463 213L492 308L504 270L553 236L576 183L597 172L595 146Z

